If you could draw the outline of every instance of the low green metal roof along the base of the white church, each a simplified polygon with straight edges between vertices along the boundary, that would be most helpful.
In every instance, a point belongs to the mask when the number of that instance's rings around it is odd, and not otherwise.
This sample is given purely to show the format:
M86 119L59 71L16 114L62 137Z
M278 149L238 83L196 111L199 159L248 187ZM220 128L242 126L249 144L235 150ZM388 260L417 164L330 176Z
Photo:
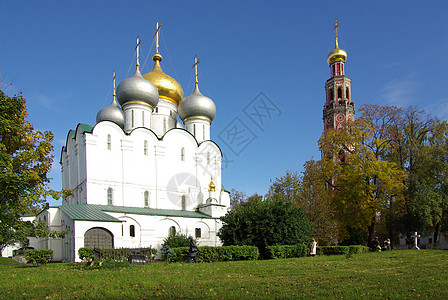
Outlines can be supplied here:
M111 215L105 212L148 215L148 216L214 219L209 215L196 211L173 210L173 209L154 209L143 207L127 207L127 206L96 205L96 204L62 205L59 206L59 208L65 214L67 214L67 216L70 219L85 220L85 221L121 222L117 218L112 217Z

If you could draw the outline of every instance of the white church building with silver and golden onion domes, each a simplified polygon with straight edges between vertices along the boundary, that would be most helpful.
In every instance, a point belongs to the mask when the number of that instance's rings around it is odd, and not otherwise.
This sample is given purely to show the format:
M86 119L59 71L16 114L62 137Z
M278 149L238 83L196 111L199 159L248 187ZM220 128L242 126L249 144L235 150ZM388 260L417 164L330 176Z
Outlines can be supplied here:
M139 43L135 74L123 80L95 125L70 130L61 151L62 188L72 190L58 207L36 216L63 239L32 240L50 248L54 260L79 261L82 247L160 250L169 235L194 236L219 246L219 218L230 207L222 187L219 146L210 140L214 102L197 79L184 98L180 84L162 71L162 56L142 75ZM183 125L177 121L179 116Z

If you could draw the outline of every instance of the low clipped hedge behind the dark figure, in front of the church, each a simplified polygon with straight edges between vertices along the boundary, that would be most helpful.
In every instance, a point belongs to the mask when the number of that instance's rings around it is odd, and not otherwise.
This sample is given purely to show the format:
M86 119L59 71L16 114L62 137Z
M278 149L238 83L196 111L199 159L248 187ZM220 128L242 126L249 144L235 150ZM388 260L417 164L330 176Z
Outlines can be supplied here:
M173 262L184 262L188 258L189 247L172 249ZM197 258L199 262L236 261L258 259L259 252L255 246L223 246L198 247Z

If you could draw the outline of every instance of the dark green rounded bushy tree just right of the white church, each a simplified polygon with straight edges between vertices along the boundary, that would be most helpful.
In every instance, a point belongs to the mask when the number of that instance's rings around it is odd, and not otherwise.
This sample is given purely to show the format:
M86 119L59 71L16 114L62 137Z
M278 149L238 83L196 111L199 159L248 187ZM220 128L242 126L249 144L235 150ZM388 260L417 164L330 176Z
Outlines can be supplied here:
M262 255L270 245L307 242L312 233L312 224L303 210L290 199L280 197L252 196L221 220L218 236L224 245L257 246Z

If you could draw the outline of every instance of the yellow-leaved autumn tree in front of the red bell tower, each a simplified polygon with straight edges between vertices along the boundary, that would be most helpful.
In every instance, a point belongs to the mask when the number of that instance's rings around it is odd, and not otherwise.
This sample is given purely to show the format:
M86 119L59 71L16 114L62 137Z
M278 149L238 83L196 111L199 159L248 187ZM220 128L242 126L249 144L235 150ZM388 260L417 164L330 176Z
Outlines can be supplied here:
M328 130L319 147L319 169L331 193L340 238L349 230L367 229L371 240L378 217L402 209L404 172L384 160L390 144L388 127L398 109L366 106L349 130Z

